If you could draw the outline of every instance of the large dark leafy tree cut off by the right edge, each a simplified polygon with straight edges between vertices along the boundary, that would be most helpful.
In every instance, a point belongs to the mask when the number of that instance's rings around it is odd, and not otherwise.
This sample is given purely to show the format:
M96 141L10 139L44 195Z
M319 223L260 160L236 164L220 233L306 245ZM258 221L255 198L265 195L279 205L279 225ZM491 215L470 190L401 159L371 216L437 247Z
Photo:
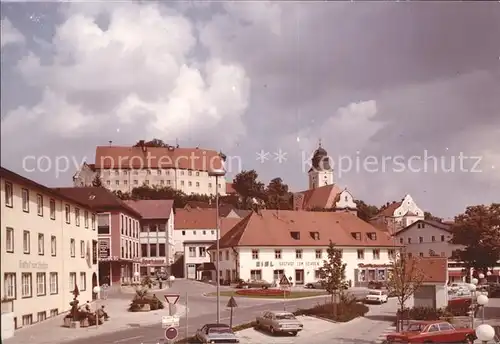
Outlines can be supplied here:
M487 271L500 260L500 203L467 207L455 217L451 243L463 245L452 258L464 262L467 269Z

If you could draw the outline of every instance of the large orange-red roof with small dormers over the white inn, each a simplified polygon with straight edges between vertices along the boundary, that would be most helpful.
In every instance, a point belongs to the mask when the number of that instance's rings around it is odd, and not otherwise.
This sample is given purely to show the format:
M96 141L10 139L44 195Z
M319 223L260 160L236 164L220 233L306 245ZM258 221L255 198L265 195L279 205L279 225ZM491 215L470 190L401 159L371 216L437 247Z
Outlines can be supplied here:
M298 239L292 232L299 233ZM354 233L360 234L359 240ZM368 233L376 238L370 239ZM221 237L220 247L328 246L330 240L338 246L400 246L386 232L350 213L262 210L252 212Z

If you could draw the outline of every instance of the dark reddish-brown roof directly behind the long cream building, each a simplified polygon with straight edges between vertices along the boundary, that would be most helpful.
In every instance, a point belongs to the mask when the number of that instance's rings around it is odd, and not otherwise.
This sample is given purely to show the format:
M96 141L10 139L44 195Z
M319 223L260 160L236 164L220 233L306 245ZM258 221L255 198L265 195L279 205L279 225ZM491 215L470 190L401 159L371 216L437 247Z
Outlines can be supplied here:
M141 214L128 206L114 193L102 187L65 187L53 190L65 195L75 202L86 204L96 212L102 213L110 210L121 210L134 217L141 218Z

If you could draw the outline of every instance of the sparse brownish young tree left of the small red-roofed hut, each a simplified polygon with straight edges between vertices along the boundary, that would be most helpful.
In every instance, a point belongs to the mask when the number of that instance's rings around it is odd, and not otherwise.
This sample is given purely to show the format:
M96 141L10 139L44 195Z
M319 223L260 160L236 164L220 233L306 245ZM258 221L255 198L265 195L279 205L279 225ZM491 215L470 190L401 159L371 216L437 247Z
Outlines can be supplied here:
M419 268L419 260L409 258L404 253L399 253L392 260L387 279L387 291L396 295L400 314L403 314L406 301L422 285L425 274ZM399 323L398 323L399 328Z

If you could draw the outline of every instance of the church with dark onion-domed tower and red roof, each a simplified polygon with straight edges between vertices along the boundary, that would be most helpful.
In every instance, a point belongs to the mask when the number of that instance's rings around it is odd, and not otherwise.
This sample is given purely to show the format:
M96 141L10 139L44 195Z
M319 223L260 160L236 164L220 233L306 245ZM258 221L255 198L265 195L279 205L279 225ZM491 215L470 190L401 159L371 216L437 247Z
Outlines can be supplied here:
M293 195L294 210L333 209L356 214L357 205L352 194L335 183L330 157L321 142L311 159L308 175L309 189Z

